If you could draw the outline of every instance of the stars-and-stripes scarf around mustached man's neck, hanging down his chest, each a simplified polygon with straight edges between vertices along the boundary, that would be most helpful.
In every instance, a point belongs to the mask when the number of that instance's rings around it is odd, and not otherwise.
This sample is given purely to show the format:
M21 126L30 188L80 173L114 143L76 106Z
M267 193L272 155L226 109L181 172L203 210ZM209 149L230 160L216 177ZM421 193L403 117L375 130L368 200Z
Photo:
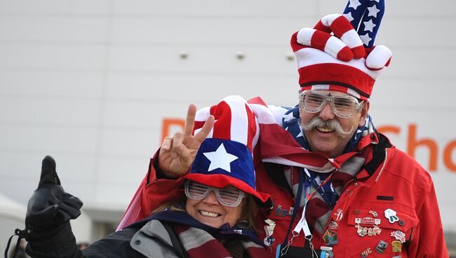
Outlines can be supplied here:
M302 191L300 208L304 207L304 195L313 192L334 173L330 180L307 200L307 222L322 235L344 185L361 171L366 161L370 161L371 144L378 142L372 118L368 116L366 123L356 130L344 154L337 158L328 158L308 151L307 141L299 125L299 107L267 106L260 98L249 100L249 103L260 121L262 161L286 165L283 172L295 197L300 173L304 173L305 191ZM370 137L366 137L367 135Z

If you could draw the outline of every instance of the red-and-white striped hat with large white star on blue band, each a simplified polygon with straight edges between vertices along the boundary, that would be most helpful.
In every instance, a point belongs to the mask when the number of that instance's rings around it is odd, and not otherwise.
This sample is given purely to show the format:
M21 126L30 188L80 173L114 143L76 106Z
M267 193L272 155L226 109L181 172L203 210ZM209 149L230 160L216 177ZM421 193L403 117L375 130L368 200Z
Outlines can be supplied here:
M210 115L215 117L214 127L199 147L184 178L216 188L232 185L251 194L257 204L271 206L269 194L255 190L253 150L260 129L246 100L229 96L212 107L197 111L194 133L201 130Z

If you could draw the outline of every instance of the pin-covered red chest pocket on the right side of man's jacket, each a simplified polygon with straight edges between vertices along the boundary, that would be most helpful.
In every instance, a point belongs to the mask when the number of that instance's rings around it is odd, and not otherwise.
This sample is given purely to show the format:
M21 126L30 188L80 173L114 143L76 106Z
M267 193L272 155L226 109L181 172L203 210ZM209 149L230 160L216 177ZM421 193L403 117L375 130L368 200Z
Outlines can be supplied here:
M385 211L386 214L385 214ZM406 246L413 240L415 213L402 205L366 203L348 210L345 257L408 257Z

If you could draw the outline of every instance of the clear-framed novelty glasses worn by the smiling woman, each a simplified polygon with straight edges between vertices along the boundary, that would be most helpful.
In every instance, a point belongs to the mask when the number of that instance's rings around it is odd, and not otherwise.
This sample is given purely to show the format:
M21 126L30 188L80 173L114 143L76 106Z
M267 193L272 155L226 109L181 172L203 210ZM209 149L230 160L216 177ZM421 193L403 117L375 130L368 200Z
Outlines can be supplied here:
M242 198L246 196L246 193L234 186L215 188L194 181L185 182L185 195L192 200L203 200L203 198L208 196L210 191L215 192L217 201L220 204L228 207L236 207L241 203Z

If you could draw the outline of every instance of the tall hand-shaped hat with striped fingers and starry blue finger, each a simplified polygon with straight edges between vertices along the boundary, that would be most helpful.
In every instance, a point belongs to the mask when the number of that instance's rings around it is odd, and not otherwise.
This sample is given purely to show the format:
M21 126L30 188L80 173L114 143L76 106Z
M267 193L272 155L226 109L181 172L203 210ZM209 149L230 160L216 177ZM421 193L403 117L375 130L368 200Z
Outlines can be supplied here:
M383 13L384 0L349 0L344 15L326 15L313 29L295 32L291 48L301 90L337 90L368 100L391 60L389 48L373 46Z

